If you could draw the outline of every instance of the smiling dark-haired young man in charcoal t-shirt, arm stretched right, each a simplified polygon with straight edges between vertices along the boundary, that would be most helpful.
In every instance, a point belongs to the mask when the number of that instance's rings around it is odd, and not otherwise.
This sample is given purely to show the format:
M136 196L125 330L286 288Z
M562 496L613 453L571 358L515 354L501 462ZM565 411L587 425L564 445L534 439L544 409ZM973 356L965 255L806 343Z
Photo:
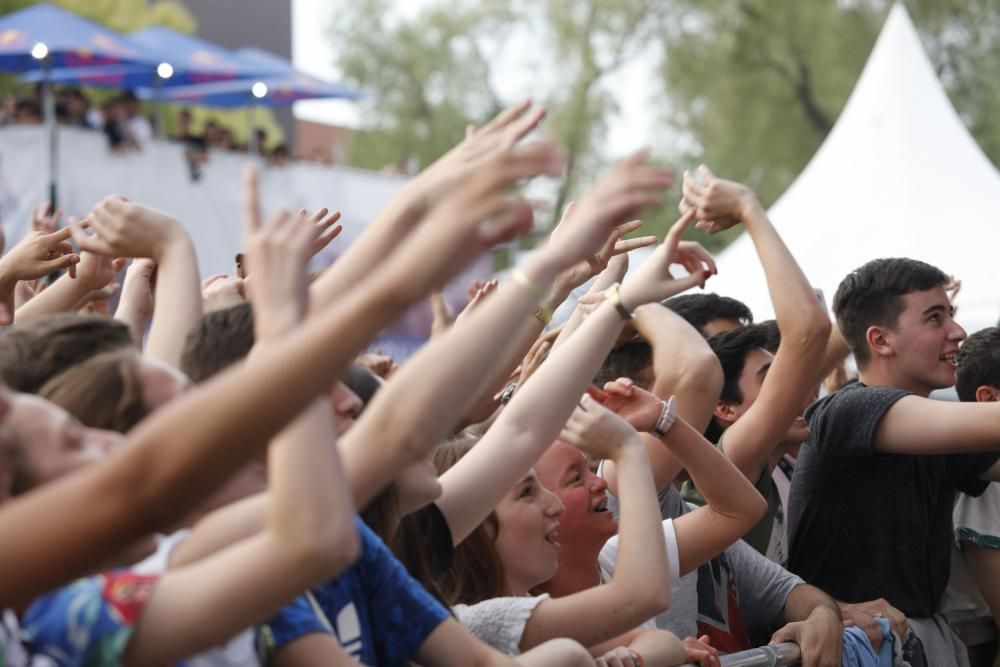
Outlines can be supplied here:
M928 399L955 384L965 331L939 269L878 259L848 275L834 312L859 381L806 413L789 499L789 567L844 602L885 598L910 619L927 664L965 665L933 617L948 580L956 491L1000 479L1000 404Z

